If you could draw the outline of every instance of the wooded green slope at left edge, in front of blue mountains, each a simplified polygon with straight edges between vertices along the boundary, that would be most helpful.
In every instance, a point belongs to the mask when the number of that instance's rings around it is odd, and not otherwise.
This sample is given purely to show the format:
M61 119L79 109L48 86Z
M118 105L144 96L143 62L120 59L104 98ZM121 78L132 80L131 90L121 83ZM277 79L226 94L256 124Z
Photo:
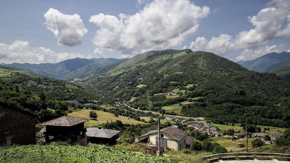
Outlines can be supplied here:
M48 99L61 101L79 100L81 102L85 102L89 99L98 100L96 95L88 90L84 90L84 88L79 85L57 79L49 79L23 70L0 66L0 76L0 82L6 82L14 86L17 85L20 88L26 91L31 91L37 95L43 92Z

